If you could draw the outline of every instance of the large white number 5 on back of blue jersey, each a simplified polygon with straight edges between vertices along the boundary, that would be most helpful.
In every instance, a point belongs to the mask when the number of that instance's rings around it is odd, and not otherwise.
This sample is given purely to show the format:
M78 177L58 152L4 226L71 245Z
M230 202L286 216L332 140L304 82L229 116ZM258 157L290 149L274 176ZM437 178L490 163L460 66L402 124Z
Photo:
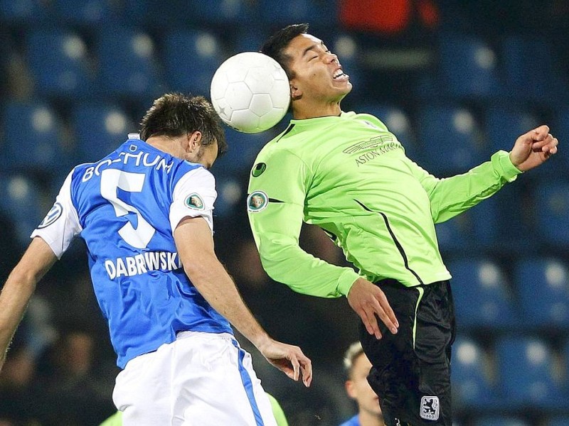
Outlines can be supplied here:
M144 249L149 244L156 229L142 217L136 207L119 200L117 189L120 188L127 192L141 192L143 186L143 173L129 173L116 169L105 169L101 172L101 195L110 201L112 207L115 207L117 217L129 213L137 215L138 226L136 229L130 222L119 229L119 235L122 239L137 249Z

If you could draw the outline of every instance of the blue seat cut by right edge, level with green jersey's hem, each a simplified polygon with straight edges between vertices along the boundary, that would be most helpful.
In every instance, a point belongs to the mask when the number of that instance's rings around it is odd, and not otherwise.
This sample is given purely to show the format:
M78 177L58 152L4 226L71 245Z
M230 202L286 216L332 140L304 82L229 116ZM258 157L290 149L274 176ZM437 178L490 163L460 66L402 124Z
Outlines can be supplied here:
M569 271L554 258L521 258L514 264L514 283L526 327L569 329Z

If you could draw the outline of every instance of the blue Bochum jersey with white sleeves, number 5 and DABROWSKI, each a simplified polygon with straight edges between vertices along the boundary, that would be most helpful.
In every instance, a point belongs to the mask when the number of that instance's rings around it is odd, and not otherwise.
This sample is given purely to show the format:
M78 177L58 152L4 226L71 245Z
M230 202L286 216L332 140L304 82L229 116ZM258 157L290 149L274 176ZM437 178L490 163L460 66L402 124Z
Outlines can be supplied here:
M202 165L129 139L97 163L75 167L32 236L60 257L87 244L93 288L121 368L174 342L176 333L233 333L181 265L173 232L203 217L213 232L215 180Z

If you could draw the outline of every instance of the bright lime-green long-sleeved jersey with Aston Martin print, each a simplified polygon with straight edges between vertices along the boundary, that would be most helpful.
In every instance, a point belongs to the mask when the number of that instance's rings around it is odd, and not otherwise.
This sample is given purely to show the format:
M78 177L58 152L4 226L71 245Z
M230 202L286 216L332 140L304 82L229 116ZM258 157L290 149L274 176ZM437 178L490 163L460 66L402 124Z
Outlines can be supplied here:
M248 214L265 271L298 293L347 295L360 275L429 284L450 278L435 223L490 197L519 173L499 151L467 173L435 178L405 156L375 116L343 112L292 120L262 148L251 171ZM303 221L324 229L359 275L303 251Z

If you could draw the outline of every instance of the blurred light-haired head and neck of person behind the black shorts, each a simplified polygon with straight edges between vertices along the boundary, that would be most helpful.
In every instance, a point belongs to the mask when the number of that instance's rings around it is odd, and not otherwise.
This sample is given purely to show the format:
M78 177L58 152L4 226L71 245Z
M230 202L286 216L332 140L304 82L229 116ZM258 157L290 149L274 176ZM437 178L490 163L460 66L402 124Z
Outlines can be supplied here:
M383 425L383 416L379 407L379 398L368 383L371 362L363 353L360 342L350 345L344 354L346 368L346 393L358 404L360 424Z

